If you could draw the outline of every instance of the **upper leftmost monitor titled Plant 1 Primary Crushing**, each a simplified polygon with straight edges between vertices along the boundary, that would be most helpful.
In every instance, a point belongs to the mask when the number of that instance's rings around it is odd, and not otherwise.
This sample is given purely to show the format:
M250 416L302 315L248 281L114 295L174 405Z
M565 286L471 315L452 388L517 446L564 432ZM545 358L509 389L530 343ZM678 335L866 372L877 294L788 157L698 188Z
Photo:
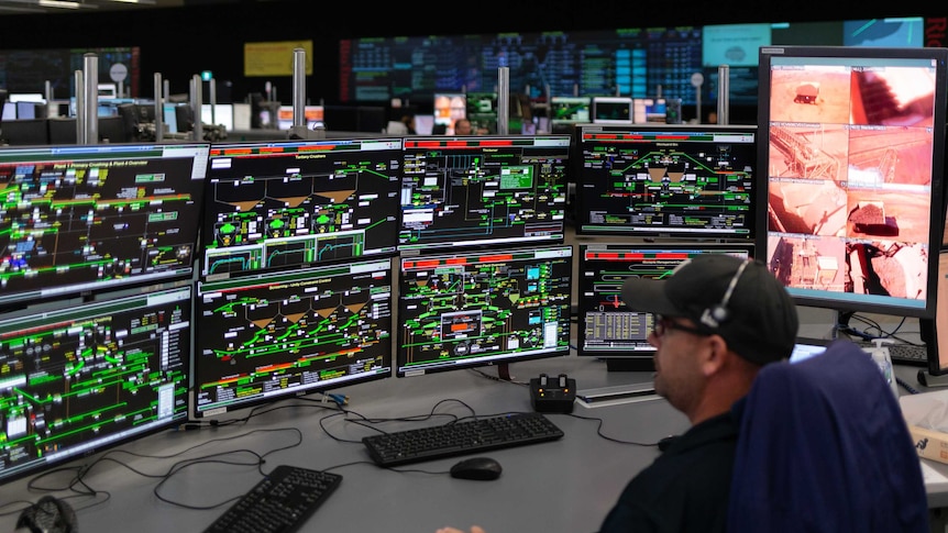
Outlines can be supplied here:
M0 306L190 277L210 145L0 151Z

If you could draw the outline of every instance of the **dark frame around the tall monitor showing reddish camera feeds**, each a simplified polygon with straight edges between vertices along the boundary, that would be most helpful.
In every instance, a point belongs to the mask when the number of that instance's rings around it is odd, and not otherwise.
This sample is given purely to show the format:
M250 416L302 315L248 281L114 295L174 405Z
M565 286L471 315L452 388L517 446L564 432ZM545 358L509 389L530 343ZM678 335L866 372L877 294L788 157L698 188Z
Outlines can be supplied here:
M943 237L943 195L944 185L939 178L944 175L945 163L941 147L945 146L946 110L948 110L948 48L879 48L856 46L769 46L760 48L760 82L758 86L758 167L767 169L758 173L758 185L756 187L758 198L761 199L758 209L757 221L757 249L761 260L771 262L769 252L770 236L769 225L769 200L770 200L770 167L767 162L770 157L770 116L771 116L771 68L775 58L793 57L801 60L813 59L814 62L836 62L844 66L859 60L890 62L890 60L930 60L935 64L934 79L934 111L933 111L933 156L932 156L932 181L930 203L927 238L927 266L925 274L925 295L922 303L913 303L916 300L907 298L888 298L884 296L864 295L859 298L852 292L833 292L826 290L806 291L789 287L787 291L798 306L829 309L840 313L840 324L844 325L848 317L855 312L869 312L900 317L913 317L919 319L932 319L935 317L937 291L938 262L937 251ZM851 118L849 119L851 123ZM825 123L816 123L825 124ZM763 203L767 202L767 203ZM767 209L763 209L767 206ZM805 236L805 234L804 234ZM774 237L778 238L778 237ZM776 242L776 241L774 241ZM845 264L845 262L844 262ZM845 266L844 266L845 268Z

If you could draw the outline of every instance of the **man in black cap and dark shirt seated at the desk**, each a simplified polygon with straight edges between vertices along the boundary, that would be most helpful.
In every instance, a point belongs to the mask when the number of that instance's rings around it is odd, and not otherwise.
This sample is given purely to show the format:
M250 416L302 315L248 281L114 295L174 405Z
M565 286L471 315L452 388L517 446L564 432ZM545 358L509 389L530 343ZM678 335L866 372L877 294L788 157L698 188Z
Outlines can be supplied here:
M739 427L731 406L763 365L790 358L796 307L762 263L724 254L699 255L662 280L628 278L621 296L654 314L655 392L692 427L629 481L599 533L724 532Z

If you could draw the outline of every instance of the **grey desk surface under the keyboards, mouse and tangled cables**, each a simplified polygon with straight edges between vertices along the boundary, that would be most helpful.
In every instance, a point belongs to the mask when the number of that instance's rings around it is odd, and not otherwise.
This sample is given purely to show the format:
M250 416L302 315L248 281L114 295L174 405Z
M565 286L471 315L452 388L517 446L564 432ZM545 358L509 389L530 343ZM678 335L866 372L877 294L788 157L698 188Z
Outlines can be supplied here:
M488 376L496 375L494 368L482 370ZM914 367L896 369L913 385L916 370ZM466 406L477 414L527 411L530 410L528 389L517 382L528 382L540 373L566 373L576 379L581 390L651 380L648 373L610 373L600 360L572 355L511 365L515 382L488 379L474 370L460 370L389 378L338 392L349 395L349 408L367 419L418 417L432 410L463 417L470 414ZM470 481L448 476L447 470L458 458L409 465L404 469L412 471L407 473L382 469L371 463L359 442L362 436L372 434L372 430L345 422L339 415L328 417L332 411L320 408L318 402L297 399L274 407L280 409L254 417L244 424L163 432L104 452L115 462L96 464L85 482L108 492L109 500L95 506L88 498L67 500L77 510L81 531L117 531L120 524L134 524L136 533L202 530L227 506L196 510L162 501L154 492L158 487L157 476L181 460L211 454L251 451L265 455L291 446L301 435L298 446L266 455L263 469L269 471L275 465L286 463L332 468L343 476L339 489L307 521L302 531L433 533L445 525L479 524L488 532L593 532L626 482L658 455L653 444L688 426L684 415L662 399L596 408L576 404L573 415L549 414L564 431L563 438L483 454L499 460L504 474L494 481ZM234 413L236 417L244 414L245 411ZM598 421L581 417L602 419L602 432L609 437L648 445L611 442L597 435ZM377 426L395 430L443 421L443 418L428 422L396 421ZM74 464L90 464L103 454ZM238 452L221 458L246 463L252 460L252 454ZM948 476L948 465L925 463ZM30 479L0 487L0 503L36 501L51 493L27 491ZM64 476L47 477L42 482L59 486L63 479ZM158 493L185 506L203 507L242 495L258 479L255 466L200 463L175 475L158 488ZM948 507L948 485L929 486L928 492L929 507ZM58 498L67 495L52 493ZM0 509L4 511L10 510ZM0 531L13 531L18 514L0 517Z

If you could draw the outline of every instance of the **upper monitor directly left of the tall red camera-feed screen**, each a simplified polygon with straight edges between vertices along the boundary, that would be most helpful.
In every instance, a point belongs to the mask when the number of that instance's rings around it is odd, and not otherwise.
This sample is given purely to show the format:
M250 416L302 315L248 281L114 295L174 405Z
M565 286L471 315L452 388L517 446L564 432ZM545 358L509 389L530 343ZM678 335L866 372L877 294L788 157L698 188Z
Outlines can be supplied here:
M751 240L757 126L580 126L576 233Z

